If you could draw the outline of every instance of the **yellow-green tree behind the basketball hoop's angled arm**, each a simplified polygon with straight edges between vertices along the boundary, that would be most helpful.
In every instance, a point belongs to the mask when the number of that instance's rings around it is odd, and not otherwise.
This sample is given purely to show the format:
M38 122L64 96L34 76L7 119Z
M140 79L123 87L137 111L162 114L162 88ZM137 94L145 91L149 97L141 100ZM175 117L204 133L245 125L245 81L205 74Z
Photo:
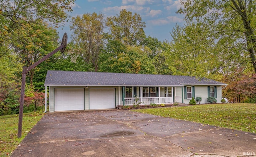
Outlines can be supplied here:
M18 56L18 62L29 67L43 56L54 50L58 44L56 30L46 23L26 24L20 30L12 32L12 50ZM30 84L33 84L36 68L28 72Z

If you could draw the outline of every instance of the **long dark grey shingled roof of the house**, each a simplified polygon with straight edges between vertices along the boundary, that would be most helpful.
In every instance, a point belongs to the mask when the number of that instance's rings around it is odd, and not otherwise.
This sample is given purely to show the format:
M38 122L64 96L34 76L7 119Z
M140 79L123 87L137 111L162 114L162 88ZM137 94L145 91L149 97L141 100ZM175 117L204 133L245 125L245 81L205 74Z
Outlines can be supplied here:
M206 78L191 76L124 74L107 72L70 72L49 70L45 86L184 86L225 85Z

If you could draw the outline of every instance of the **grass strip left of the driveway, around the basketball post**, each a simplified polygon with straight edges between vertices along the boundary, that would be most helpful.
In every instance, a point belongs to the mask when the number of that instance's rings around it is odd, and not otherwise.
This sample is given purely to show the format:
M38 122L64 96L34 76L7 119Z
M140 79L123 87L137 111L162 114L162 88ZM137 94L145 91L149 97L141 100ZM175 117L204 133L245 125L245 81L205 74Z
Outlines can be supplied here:
M24 113L20 139L17 137L19 115L0 116L0 157L9 156L42 116L42 113Z

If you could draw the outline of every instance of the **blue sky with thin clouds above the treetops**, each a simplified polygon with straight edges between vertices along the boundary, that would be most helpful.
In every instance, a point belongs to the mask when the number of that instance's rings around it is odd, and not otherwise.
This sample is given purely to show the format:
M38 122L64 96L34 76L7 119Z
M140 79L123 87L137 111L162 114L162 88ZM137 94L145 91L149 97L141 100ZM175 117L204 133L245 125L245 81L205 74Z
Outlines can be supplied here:
M184 25L184 15L177 14L181 8L180 0L76 0L72 4L73 12L68 12L71 17L81 16L86 13L102 13L105 17L117 16L122 9L140 14L142 21L146 22L144 32L146 36L157 38L160 41L171 40L170 32L176 24ZM66 22L64 28L58 32L62 38L64 32L70 40L70 23Z

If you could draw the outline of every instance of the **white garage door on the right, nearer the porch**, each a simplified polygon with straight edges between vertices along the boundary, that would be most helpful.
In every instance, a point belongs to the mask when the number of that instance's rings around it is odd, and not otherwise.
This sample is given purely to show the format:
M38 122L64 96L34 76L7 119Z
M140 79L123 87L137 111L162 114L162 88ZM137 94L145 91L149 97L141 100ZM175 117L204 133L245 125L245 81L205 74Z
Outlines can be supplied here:
M90 88L89 109L114 109L115 89Z

